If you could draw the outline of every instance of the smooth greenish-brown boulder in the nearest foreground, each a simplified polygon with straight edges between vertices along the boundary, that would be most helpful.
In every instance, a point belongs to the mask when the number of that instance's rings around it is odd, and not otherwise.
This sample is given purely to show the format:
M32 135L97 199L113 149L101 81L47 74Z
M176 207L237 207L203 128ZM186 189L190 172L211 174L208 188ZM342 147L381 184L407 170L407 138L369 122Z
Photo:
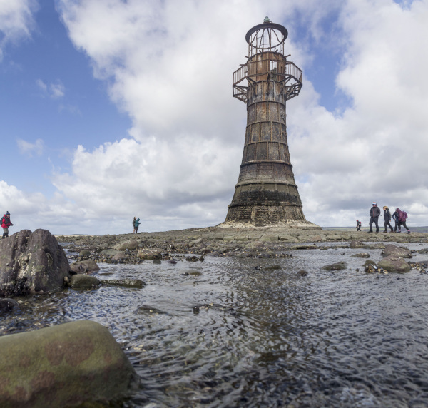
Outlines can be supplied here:
M92 407L126 397L136 378L121 346L96 322L0 337L1 407Z

